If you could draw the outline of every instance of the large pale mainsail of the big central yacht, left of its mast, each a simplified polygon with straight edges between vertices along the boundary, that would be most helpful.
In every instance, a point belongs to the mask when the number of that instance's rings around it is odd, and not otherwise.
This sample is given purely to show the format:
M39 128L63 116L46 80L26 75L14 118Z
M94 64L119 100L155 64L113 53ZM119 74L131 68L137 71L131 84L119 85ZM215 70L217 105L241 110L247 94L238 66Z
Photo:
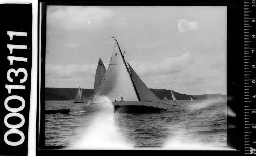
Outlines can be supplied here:
M105 102L104 96L111 101L120 101L121 97L125 101L139 100L122 57L118 44L115 42L108 70L92 103Z

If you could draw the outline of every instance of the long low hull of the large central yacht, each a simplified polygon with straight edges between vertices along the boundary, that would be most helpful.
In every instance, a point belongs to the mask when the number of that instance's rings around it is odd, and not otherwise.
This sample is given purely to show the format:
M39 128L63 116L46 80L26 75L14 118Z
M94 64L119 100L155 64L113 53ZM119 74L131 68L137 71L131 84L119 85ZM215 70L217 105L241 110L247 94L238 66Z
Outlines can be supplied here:
M110 106L109 103L90 103L89 105L84 105L83 110L86 112L99 111L112 107L116 112L120 113L152 113L167 111L172 109L172 105L167 103L158 102L148 102L148 101L118 101L112 102Z

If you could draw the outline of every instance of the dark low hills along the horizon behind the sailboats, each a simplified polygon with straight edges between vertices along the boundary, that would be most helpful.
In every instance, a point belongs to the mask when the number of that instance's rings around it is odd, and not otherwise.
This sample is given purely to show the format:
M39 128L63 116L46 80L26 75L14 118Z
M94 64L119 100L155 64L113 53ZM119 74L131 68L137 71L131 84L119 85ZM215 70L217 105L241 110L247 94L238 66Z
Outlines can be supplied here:
M78 88L45 88L45 100L74 100ZM150 89L159 99L163 100L166 96L169 100L173 100L170 90L167 89ZM203 95L186 95L173 91L177 100L217 100L218 94L203 94ZM93 89L82 89L82 96L87 100L93 98ZM226 99L226 95L221 95Z

